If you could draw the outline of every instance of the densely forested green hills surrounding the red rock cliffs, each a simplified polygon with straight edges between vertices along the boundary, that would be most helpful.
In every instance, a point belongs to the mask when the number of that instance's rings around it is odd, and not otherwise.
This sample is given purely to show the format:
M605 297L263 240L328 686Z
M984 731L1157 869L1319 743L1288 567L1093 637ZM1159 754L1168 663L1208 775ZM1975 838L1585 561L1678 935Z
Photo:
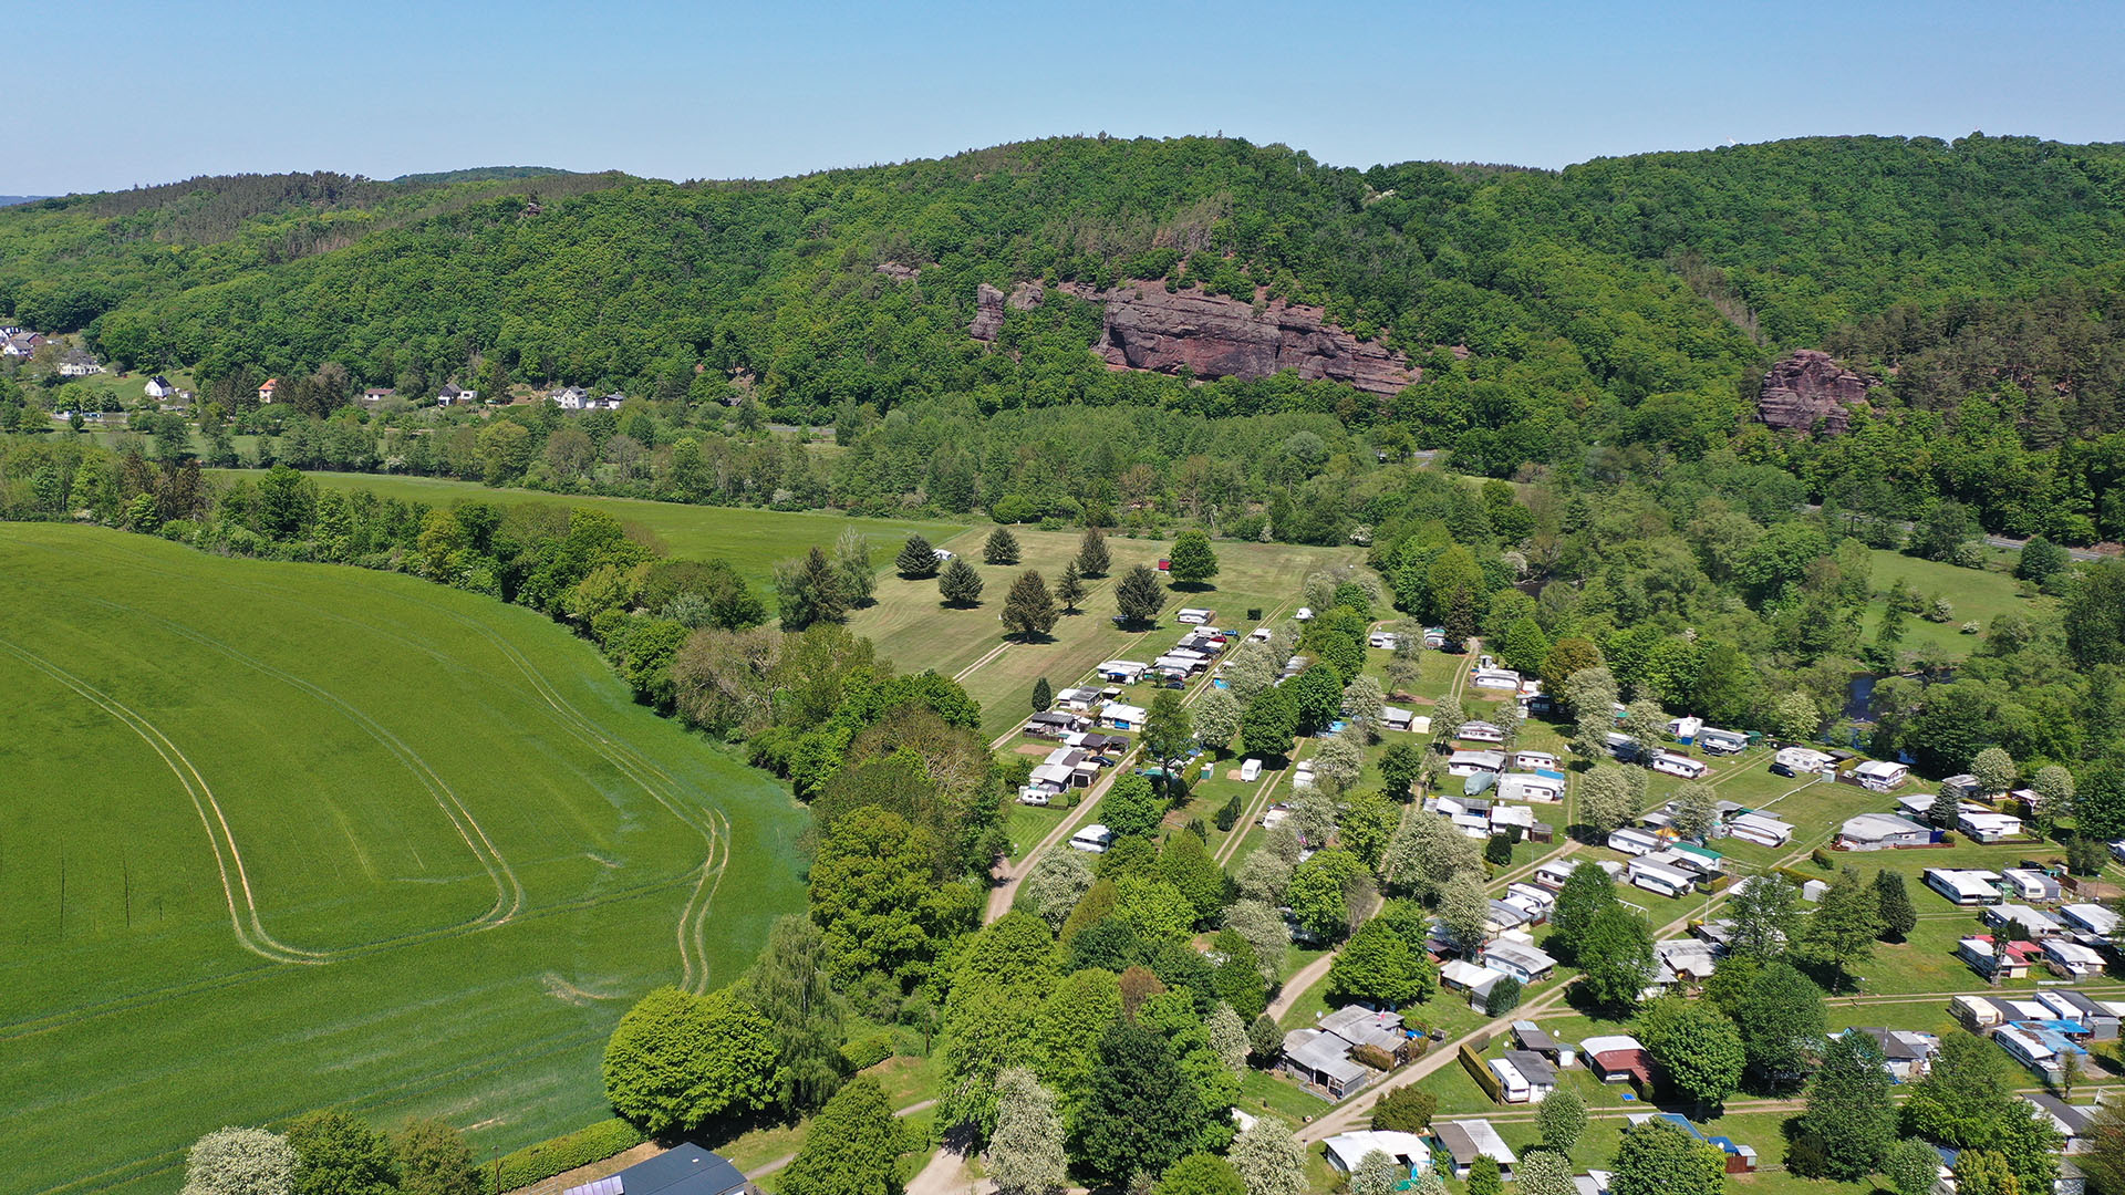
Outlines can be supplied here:
M1998 527L2059 487L2093 502L2108 483L2061 444L2125 425L2116 145L1810 138L1543 172L1058 138L771 183L298 183L255 215L196 185L0 211L0 306L206 378L338 361L414 393L482 370L699 398L701 366L710 393L756 378L769 415L812 421L963 395L1309 408L1498 476L1736 444L1817 495L1866 508L1885 500L1864 489L1908 485ZM1062 287L1130 279L1320 304L1426 381L1375 398L1116 374L1086 353L1096 304ZM1048 302L994 344L967 334L978 285L1028 281ZM1885 383L1836 444L1749 425L1766 364L1798 347ZM1968 451L1940 464L1944 438ZM2019 510L1961 493L1998 476L2023 478Z

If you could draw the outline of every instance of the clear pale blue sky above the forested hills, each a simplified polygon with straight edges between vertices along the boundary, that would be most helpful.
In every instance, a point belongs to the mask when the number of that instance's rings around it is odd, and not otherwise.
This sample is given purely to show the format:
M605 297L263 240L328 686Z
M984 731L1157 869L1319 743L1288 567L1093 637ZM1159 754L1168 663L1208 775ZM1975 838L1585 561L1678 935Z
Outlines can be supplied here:
M79 0L15 26L0 193L497 164L778 176L1094 132L1339 166L2125 140L2119 0Z

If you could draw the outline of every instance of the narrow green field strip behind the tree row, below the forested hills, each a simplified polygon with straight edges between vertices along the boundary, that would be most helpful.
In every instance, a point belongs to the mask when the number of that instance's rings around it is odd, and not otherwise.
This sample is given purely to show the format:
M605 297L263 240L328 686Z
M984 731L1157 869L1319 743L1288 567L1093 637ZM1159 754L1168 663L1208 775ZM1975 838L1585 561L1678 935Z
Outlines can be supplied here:
M255 476L244 470L212 470L215 481L230 483ZM842 527L856 527L871 540L871 559L886 563L910 532L944 540L958 523L924 519L850 519L846 515L814 515L805 510L754 510L748 506L684 506L678 502L646 502L640 498L595 498L586 493L544 493L538 489L489 489L472 481L434 476L385 476L368 472L312 472L325 489L366 489L402 502L453 506L457 502L495 502L514 506L538 502L548 506L586 506L604 510L623 523L652 532L680 559L727 559L746 580L765 585L776 561L803 555L810 546L833 551ZM931 587L935 591L935 585ZM771 600L771 595L767 595ZM1096 663L1096 661L1094 661ZM920 672L920 670L918 670Z

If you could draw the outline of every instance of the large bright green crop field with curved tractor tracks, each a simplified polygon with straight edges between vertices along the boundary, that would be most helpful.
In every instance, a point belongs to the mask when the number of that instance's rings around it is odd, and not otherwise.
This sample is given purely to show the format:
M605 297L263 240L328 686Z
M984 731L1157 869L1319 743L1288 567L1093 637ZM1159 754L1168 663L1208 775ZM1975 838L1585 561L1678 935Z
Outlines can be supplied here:
M788 795L529 610L21 523L0 598L0 1193L319 1106L580 1127L633 997L801 908Z

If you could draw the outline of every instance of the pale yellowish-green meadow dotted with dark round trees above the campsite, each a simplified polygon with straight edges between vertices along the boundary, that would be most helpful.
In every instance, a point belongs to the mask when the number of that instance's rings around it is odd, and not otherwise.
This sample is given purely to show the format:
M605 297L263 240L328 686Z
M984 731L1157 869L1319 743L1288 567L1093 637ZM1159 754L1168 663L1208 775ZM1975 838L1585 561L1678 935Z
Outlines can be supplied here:
M1018 538L1018 563L982 563L982 544L994 525L969 527L950 540L935 540L967 559L982 574L982 604L948 608L939 602L935 580L901 580L890 561L878 576L878 604L856 610L848 625L878 644L878 653L901 672L933 668L956 676L967 693L982 704L982 729L999 736L1033 712L1026 704L1033 683L1041 676L1056 689L1084 678L1103 659L1150 661L1173 646L1188 629L1173 621L1182 606L1218 610L1220 625L1241 625L1247 608L1264 615L1277 606L1300 602L1307 574L1332 563L1358 559L1358 549L1309 549L1296 544L1241 544L1218 540L1218 576L1207 589L1167 589L1167 612L1152 632L1114 625L1114 585L1133 566L1156 566L1173 546L1171 540L1130 540L1107 536L1114 568L1099 580L1086 580L1090 593L1077 615L1062 615L1046 640L1020 642L1003 636L999 615L1012 580L1024 570L1056 578L1077 555L1084 532L1037 532L1012 527ZM1160 574L1162 576L1162 574ZM1058 602L1060 606L1060 602ZM1143 691L1145 700L1150 689Z

